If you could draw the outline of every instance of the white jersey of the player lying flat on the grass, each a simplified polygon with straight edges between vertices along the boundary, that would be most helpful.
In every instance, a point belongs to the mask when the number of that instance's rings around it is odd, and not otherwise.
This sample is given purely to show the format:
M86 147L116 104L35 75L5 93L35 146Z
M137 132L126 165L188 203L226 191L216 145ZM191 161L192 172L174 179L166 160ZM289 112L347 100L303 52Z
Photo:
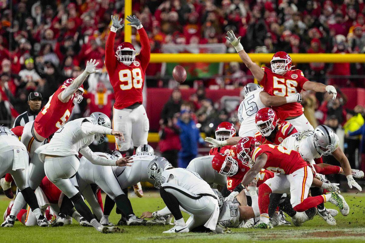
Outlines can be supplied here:
M225 201L219 212L218 224L224 227L238 227L239 221L238 201Z

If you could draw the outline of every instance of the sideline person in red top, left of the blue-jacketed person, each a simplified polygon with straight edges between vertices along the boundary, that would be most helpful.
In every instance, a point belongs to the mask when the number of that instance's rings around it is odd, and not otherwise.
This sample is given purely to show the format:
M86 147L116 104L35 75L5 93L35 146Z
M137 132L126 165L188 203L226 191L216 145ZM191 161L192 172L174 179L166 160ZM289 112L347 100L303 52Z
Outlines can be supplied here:
M176 122L176 117L164 119L158 132L160 136L158 147L161 156L165 157L174 167L177 167L177 154L181 149L180 129L176 126Z

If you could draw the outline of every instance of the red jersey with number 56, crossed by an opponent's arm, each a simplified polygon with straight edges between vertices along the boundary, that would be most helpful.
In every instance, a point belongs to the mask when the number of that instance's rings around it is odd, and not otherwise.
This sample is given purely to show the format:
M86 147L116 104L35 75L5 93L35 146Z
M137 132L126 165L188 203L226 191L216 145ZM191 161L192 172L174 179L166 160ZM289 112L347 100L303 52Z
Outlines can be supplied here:
M289 70L283 76L273 73L268 67L263 67L262 69L265 74L264 78L260 81L260 85L270 95L289 96L300 93L304 83L308 81L299 69ZM303 106L297 102L273 106L272 109L276 111L276 114L282 120L285 120L287 117L296 117L303 114Z

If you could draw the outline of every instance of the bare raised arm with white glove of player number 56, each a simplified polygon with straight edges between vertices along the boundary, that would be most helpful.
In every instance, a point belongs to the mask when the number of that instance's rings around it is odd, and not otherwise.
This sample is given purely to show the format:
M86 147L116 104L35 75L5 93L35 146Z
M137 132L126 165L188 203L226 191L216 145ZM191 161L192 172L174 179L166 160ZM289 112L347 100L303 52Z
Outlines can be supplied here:
M242 44L239 42L241 39L241 36L236 38L233 31L228 31L226 39L231 43L231 45L236 49L239 57L245 63L246 67L252 72L255 79L257 79L258 82L264 78L264 70L260 66L258 66L256 63L254 63L250 56L246 53L245 50L243 50Z

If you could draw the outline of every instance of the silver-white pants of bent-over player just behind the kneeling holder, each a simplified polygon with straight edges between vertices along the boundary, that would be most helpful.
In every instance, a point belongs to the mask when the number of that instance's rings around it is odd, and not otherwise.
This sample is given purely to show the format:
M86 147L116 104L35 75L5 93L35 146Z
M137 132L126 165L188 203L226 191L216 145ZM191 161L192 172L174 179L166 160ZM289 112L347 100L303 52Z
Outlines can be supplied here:
M212 167L214 155L197 157L190 161L187 169L199 174L199 176L208 184L215 183L226 186L227 176L220 175Z

